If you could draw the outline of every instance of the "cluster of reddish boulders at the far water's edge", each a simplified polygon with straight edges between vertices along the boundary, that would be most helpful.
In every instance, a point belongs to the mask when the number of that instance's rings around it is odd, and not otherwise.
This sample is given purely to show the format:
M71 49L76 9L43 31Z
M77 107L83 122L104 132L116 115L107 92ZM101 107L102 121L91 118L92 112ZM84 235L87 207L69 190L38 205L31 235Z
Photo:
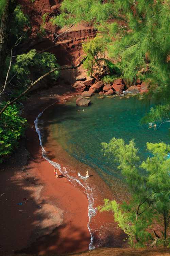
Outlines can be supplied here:
M137 84L129 87L125 80L122 78L116 79L113 84L104 84L103 81L96 81L95 78L86 79L85 76L76 77L76 82L72 85L72 88L81 93L83 97L91 97L93 93L99 93L100 95L122 95L125 93L147 93L149 82L142 82L137 80ZM90 101L86 98L78 98L77 105L88 106Z

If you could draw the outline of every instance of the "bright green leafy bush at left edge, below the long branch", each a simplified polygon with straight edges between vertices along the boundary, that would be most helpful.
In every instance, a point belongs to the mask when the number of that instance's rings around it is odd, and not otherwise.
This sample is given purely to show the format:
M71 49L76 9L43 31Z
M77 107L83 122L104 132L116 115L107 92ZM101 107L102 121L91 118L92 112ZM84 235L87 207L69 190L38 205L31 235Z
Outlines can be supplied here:
M6 104L3 102L1 108ZM24 136L27 120L20 117L16 104L8 106L0 119L0 162L18 146L18 140Z

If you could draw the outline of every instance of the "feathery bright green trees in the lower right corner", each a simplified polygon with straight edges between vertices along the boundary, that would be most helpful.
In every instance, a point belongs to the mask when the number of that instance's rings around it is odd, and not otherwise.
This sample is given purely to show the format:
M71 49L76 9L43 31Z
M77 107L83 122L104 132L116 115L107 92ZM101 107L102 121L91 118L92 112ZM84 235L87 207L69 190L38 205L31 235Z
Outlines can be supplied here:
M122 139L113 138L108 144L102 143L102 147L104 155L118 163L131 198L122 204L105 199L99 209L113 211L115 221L128 234L131 246L142 247L153 240L149 229L156 219L162 227L159 244L166 246L170 219L170 159L167 157L170 145L147 143L151 156L142 163L133 140L125 144Z

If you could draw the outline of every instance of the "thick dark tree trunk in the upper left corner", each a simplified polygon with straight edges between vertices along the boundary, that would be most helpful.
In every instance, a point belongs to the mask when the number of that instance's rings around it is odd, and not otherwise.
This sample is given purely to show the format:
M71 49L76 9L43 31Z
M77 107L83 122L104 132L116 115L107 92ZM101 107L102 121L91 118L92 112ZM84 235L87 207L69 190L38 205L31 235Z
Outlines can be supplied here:
M16 8L17 0L6 0L4 12L0 22L0 79L4 69L4 63L7 55L7 43L10 35L10 25L12 14Z

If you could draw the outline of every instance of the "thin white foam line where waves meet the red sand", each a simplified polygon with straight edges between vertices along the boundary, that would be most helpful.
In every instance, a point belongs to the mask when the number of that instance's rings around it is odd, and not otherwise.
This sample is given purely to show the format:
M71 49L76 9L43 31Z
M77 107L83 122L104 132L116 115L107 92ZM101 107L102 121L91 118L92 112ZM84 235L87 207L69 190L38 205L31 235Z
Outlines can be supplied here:
M38 123L40 122L39 118L43 115L44 111L46 111L46 109L48 109L50 106L53 106L57 102L58 101L56 101L53 104L47 106L41 113L39 113L39 115L34 120L35 129L36 129L36 132L38 133L38 138L39 138L43 158L46 159L52 166L57 168L62 174L65 174L67 176L68 181L70 181L71 184L73 184L73 181L76 181L80 186L82 186L86 190L86 195L87 195L87 199L88 199L88 203L89 203L88 204L89 222L87 224L87 227L88 227L88 230L89 230L89 233L90 233L89 250L93 250L95 248L95 246L93 245L94 237L93 237L92 231L90 229L90 222L91 222L91 218L96 215L96 209L93 207L94 198L92 196L92 188L90 188L87 184L85 184L86 185L86 187L85 187L78 179L76 179L75 177L68 174L67 168L63 168L65 170L63 172L63 170L61 168L61 165L59 163L56 163L56 162L50 160L50 158L47 156L46 151L43 147L42 138L41 138L41 131L40 131L40 128L38 127ZM41 122L41 123L43 123L43 122Z

